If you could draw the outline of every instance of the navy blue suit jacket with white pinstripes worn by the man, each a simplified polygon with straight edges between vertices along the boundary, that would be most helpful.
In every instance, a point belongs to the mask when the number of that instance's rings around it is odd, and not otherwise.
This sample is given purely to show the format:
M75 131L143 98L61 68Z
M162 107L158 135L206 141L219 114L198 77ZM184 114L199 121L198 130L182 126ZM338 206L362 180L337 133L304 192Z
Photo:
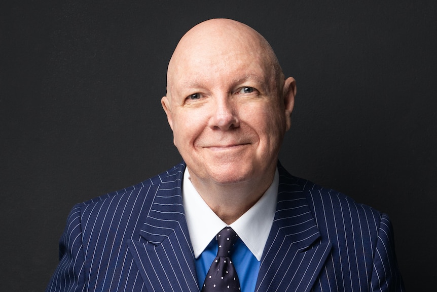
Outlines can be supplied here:
M47 291L198 292L184 169L76 205ZM385 214L278 169L256 291L404 290Z

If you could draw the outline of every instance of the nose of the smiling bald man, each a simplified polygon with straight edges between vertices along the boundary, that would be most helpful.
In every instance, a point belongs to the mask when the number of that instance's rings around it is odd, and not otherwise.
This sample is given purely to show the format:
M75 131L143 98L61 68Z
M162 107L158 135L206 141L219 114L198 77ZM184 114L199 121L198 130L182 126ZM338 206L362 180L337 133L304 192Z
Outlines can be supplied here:
M240 126L237 109L227 97L216 99L212 111L210 126L213 129L227 131Z

